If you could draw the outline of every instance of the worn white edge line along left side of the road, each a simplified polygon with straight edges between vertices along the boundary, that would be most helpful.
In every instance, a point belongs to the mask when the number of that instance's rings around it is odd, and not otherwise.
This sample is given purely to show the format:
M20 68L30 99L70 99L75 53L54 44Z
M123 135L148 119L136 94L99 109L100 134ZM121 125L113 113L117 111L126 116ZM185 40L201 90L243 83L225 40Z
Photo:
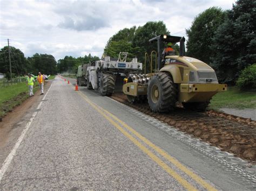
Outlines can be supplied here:
M52 85L52 83L51 83L51 85ZM51 89L51 86L50 86L50 88L48 89L47 93L45 94L45 96L43 97L42 100L45 100L45 97L46 97L46 95L49 93L49 90L50 90L50 89ZM39 109L39 108L41 107L42 103L43 103L42 101L39 103L37 109ZM19 136L19 138L18 138L16 144L15 144L14 147L12 148L10 154L9 154L8 157L6 157L6 159L4 160L3 165L2 165L2 168L0 169L0 183L1 183L2 179L3 179L4 173L7 171L7 169L8 169L8 167L9 167L9 165L10 165L12 159L14 158L14 156L15 156L15 154L16 154L16 151L17 151L17 149L18 149L18 147L19 147L19 145L21 145L21 142L22 142L22 140L23 140L23 138L24 138L26 132L29 130L30 125L31 125L33 119L36 117L37 112L38 112L38 111L35 111L35 112L33 113L32 117L29 119L29 122L26 124L24 130L22 131L21 136Z

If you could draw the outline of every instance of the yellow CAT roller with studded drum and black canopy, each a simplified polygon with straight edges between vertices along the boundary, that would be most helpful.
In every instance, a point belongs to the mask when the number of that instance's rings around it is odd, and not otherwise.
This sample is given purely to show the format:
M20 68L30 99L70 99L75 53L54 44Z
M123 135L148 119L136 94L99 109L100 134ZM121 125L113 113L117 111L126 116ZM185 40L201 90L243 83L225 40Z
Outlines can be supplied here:
M185 56L185 38L160 35L149 40L157 41L157 52L151 52L150 73L130 74L123 86L123 93L130 102L145 101L154 112L173 111L176 103L184 108L204 111L212 96L227 90L219 84L215 71L203 61ZM179 55L174 51L163 52L165 43L179 43ZM152 72L152 54L156 54L156 67ZM150 59L149 59L150 60Z

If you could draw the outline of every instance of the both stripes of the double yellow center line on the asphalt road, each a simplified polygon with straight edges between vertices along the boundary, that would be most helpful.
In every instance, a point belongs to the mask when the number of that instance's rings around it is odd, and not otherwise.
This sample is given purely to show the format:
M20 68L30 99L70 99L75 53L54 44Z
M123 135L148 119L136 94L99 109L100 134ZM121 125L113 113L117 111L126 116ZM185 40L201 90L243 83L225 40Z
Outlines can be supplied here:
M169 173L174 179L176 179L184 188L187 190L197 190L193 185L191 185L189 182L187 182L184 178L182 178L177 172L173 171L163 160L161 160L157 155L152 153L147 147L145 147L142 143L138 142L136 138L133 136L137 137L138 139L142 140L144 144L147 146L150 146L154 151L162 155L165 159L169 160L173 165L175 165L177 168L179 168L181 171L186 173L190 178L195 180L199 185L203 186L207 190L216 190L214 187L212 187L209 183L205 182L203 179L201 179L197 174L194 174L192 171L190 171L188 168L186 168L184 165L182 165L177 159L174 159L171 157L169 154L167 154L164 150L159 148L158 146L154 145L153 143L150 142L150 140L146 139L140 133L132 129L129 125L118 119L116 116L111 114L109 111L106 111L105 109L99 107L95 103L91 102L89 98L87 98L83 93L80 93L78 91L78 94L84 98L84 100L89 103L95 110L99 112L103 117L107 119L113 126L115 126L120 132L123 133L124 136L129 138L133 144L138 146L144 153L149 155L149 157L155 161L159 166L161 166L167 173ZM122 125L122 126L120 126ZM133 136L127 132L126 130L129 130Z

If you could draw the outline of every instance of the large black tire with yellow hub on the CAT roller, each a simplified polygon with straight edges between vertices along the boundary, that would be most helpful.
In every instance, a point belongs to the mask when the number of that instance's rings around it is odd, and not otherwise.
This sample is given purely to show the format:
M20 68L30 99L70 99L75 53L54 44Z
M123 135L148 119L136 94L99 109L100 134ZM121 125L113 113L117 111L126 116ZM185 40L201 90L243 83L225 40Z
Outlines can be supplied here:
M147 101L153 112L173 111L177 95L177 85L173 83L169 74L159 72L151 77L147 88Z

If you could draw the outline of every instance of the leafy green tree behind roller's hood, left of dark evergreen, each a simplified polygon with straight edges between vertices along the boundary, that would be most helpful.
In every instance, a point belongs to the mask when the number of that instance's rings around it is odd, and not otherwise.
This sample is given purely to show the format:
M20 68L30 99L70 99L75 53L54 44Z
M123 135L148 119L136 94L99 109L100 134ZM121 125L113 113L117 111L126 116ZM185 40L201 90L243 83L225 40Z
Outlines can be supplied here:
M206 63L210 63L214 50L211 49L212 38L219 25L224 22L226 13L217 7L206 9L200 13L186 30L187 54Z

